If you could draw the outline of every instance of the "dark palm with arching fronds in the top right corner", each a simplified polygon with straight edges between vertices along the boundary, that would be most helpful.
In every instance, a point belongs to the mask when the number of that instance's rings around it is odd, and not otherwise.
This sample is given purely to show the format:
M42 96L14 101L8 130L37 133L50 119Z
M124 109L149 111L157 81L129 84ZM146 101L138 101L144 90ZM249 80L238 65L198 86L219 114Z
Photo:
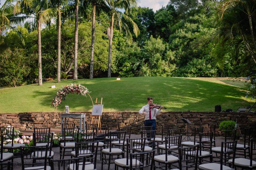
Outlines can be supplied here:
M224 37L224 40L233 39L235 35L242 36L243 42L256 64L255 17L255 0L225 0L220 3L218 8L220 23L216 34Z

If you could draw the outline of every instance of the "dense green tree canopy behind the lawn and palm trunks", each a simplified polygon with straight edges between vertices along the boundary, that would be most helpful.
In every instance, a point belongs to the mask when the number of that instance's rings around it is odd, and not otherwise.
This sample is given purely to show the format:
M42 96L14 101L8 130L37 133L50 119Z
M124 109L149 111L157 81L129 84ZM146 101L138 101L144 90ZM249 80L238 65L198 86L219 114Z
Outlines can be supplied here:
M244 1L230 2L170 0L156 12L145 7L132 7L124 13L119 11L117 24L113 24L112 77L248 76L256 66L256 17L250 11L255 10L256 4L248 1L251 8L247 9L248 4ZM90 76L93 6L80 8L88 14L79 17L77 69L78 78L82 79ZM119 27L122 17L129 17L134 22L125 25L131 30L133 42L127 41L127 29ZM108 75L110 20L111 15L104 10L99 10L95 17L93 78ZM139 35L132 32L134 25L138 26ZM38 77L38 31L32 26L26 23L24 28L18 27L18 32L13 30L1 36L0 86L33 83ZM74 71L74 28L72 16L62 19L62 79L69 78ZM42 78L57 78L57 42L55 24L42 29Z

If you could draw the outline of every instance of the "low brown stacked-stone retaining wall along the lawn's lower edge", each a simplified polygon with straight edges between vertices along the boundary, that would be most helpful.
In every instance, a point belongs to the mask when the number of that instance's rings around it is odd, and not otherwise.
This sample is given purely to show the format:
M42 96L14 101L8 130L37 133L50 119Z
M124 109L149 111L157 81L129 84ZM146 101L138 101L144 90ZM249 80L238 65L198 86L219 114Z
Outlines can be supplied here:
M89 123L90 113L86 113L86 121ZM61 113L60 113L61 114ZM51 127L60 128L61 122L56 113L0 113L0 125L14 126L19 130L30 130L33 127ZM229 113L229 112L163 112L157 117L157 134L161 131L161 126L169 124L172 129L181 128L185 133L185 124L181 118L188 118L193 124L189 125L189 133L194 127L204 127L204 131L210 130L210 125L219 124L222 120L237 120L242 131L243 128L251 127L252 132L256 134L256 113ZM75 122L79 125L80 120L68 118L68 123ZM108 123L119 123L120 126L132 126L132 133L139 133L144 123L144 116L138 112L103 112L101 117L102 127ZM186 128L187 129L187 128ZM218 130L217 133L221 132Z

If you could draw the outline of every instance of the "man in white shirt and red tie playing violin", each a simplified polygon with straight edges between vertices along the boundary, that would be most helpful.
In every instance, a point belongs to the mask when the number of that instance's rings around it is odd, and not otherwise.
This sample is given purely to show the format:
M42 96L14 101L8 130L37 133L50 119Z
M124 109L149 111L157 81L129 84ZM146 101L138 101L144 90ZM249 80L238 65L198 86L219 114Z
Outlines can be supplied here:
M153 98L147 97L147 105L143 106L139 110L139 114L145 114L145 126L153 126L152 130L155 130L155 115L158 115L161 112L161 109L164 108L161 106L159 110L154 107Z

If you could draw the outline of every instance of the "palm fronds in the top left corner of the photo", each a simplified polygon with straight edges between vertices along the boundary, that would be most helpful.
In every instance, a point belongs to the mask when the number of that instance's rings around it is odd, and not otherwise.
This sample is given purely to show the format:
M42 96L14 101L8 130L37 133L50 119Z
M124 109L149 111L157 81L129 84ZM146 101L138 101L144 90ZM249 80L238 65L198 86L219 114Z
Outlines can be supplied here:
M12 0L7 0L0 8L0 37L1 34L6 32L8 29L14 29L18 35L22 38L21 34L15 29L15 25L21 23L25 16L19 16L19 14L14 14L14 5L11 3ZM1 3L0 3L1 5ZM24 40L22 38L23 44Z

